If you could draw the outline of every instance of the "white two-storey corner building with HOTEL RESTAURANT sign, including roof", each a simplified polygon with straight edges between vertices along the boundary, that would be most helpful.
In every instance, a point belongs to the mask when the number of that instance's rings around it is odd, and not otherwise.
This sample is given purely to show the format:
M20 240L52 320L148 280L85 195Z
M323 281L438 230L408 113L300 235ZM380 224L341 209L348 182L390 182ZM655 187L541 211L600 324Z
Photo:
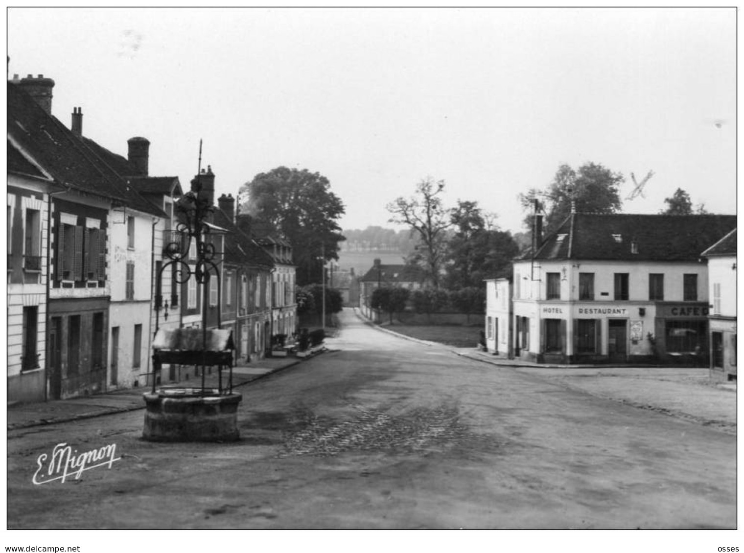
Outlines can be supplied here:
M707 364L708 266L701 252L736 221L572 213L514 262L516 357Z

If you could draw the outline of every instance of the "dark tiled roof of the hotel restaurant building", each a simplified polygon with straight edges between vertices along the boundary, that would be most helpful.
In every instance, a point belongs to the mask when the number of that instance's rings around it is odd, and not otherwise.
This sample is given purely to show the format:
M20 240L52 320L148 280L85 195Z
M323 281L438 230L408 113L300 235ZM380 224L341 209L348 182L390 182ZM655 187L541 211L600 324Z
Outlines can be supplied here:
M735 215L574 213L547 236L534 259L696 261L737 226ZM530 259L527 252L520 259Z

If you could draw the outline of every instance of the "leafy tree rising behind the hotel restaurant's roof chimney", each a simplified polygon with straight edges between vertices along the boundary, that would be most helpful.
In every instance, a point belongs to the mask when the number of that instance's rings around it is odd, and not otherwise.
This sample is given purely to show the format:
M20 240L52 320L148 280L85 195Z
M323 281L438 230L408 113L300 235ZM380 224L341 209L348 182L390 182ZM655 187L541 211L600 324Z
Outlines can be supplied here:
M533 201L538 200L545 211L543 228L551 233L571 213L574 201L578 213L618 213L622 207L620 185L625 182L622 173L612 172L601 164L583 164L576 171L571 166L559 166L551 184L545 190L533 188L527 194L520 194L519 201L528 210L533 209ZM525 225L532 225L531 214Z

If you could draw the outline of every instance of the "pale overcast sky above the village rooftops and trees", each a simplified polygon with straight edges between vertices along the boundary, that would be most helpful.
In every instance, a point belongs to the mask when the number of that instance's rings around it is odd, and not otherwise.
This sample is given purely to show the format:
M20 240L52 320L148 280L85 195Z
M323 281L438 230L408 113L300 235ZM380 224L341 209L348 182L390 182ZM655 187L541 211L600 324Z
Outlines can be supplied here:
M202 166L235 195L277 166L319 172L341 227L388 223L426 176L522 230L517 195L560 164L655 175L736 210L736 12L728 9L10 8L10 77L54 79L52 111L150 174ZM716 124L718 122L719 124Z

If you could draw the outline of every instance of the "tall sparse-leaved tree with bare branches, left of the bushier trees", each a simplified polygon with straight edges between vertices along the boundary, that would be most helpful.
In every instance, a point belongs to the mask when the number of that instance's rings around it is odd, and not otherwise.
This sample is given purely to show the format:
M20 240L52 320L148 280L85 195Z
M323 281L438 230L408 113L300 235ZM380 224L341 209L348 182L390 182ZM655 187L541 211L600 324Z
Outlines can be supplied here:
M444 181L427 177L416 186L412 198L399 197L385 208L391 213L393 223L406 224L420 240L420 262L434 288L439 288L440 271L445 258L446 230L452 226L449 210L442 205L440 194Z

